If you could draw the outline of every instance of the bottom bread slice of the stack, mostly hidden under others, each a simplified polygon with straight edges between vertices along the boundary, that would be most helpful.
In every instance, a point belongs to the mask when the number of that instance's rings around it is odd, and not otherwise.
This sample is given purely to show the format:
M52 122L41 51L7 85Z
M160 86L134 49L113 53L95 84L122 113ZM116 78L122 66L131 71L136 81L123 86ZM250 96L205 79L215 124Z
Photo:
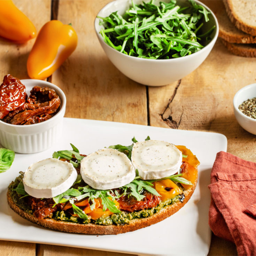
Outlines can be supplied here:
M242 57L256 57L256 44L233 44L222 39L223 45L231 53Z

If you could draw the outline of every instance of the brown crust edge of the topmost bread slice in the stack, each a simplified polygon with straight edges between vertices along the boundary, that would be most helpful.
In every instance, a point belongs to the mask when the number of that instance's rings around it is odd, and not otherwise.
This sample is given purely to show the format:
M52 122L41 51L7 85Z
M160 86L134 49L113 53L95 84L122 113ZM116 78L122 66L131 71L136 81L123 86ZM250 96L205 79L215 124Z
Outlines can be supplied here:
M234 12L232 0L223 0L226 12L231 22L236 26L236 28L242 30L247 34L256 36L256 27L245 23L240 19L240 17Z

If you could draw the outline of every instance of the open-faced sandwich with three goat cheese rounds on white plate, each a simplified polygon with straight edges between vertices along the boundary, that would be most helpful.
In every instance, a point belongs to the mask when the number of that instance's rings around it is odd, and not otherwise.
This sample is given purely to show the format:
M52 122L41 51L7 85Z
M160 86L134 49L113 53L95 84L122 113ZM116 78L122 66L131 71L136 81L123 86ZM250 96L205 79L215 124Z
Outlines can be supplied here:
M63 232L118 234L160 222L189 200L200 163L185 146L132 141L87 156L71 144L31 164L8 187L10 207Z

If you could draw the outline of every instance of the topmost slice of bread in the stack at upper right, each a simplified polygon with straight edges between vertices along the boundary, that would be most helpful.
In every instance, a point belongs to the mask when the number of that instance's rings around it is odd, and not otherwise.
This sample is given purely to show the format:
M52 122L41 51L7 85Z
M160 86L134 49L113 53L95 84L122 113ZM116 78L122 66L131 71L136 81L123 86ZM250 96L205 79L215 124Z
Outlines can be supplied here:
M256 36L256 0L223 0L223 3L236 28Z

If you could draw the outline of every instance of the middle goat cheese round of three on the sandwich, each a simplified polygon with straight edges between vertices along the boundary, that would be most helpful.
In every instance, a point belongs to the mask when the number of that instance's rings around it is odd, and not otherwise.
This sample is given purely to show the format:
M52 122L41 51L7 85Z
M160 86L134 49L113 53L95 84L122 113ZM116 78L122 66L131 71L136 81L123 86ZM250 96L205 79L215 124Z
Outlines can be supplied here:
M100 149L83 158L80 173L88 185L102 190L122 187L135 178L129 158L112 148Z

